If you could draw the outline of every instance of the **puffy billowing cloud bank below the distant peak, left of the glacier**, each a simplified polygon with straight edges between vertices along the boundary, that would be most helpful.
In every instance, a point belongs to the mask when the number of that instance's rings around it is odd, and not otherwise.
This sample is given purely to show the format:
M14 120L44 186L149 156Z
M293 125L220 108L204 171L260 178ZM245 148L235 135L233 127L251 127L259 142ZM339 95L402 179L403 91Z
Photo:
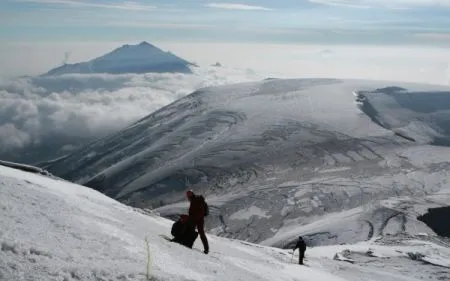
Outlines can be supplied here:
M52 141L66 150L206 86L260 80L228 68L194 74L65 75L0 81L0 154Z

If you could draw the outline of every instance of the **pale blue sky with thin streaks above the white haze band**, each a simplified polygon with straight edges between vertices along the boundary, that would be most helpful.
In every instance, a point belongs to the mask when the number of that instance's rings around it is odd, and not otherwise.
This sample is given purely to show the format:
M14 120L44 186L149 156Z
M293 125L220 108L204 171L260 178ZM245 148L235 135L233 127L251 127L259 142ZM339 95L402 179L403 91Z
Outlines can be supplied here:
M0 38L450 45L450 0L2 0Z

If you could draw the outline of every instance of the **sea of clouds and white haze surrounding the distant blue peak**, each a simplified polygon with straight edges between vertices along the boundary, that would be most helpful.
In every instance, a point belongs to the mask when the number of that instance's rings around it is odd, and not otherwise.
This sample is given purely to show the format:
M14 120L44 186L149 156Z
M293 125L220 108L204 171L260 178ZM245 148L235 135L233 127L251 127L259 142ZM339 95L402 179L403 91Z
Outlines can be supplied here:
M0 65L0 159L33 162L62 155L205 86L267 77L450 83L450 51L439 47L201 42L161 43L203 65L193 68L193 74L14 78L45 73L60 63L67 50L73 50L71 61L76 62L118 45L0 46L0 60L5 62ZM217 61L226 67L205 67ZM36 153L40 155L30 156Z

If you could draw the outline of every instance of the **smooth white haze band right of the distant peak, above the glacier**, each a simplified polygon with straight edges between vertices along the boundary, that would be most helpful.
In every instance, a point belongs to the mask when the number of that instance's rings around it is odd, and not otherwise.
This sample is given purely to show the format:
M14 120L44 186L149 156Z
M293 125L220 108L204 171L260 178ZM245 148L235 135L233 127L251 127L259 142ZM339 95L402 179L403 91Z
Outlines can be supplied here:
M430 40L431 41L431 40ZM447 84L450 50L424 46L161 43L200 64L250 67L271 77L349 78ZM320 53L320 51L328 50ZM420 70L426 68L427 72Z

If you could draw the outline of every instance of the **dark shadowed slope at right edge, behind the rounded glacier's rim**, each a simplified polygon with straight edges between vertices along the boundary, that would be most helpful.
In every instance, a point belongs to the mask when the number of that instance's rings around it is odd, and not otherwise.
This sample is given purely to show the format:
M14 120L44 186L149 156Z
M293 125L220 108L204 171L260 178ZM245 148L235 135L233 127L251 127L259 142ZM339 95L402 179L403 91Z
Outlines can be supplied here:
M418 143L450 146L450 91L386 87L355 93L377 124Z

